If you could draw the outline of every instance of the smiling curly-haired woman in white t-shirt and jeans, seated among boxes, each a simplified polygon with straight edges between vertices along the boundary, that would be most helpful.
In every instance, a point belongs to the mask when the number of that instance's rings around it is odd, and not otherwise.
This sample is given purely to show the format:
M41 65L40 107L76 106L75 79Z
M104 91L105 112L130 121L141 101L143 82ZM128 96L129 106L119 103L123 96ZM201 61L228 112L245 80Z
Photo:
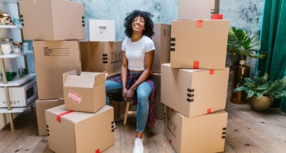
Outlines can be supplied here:
M155 83L151 79L151 67L155 54L153 36L153 15L149 12L134 10L124 19L125 34L128 36L122 43L121 76L105 82L106 93L122 92L126 102L137 100L137 134L133 152L143 152L142 136L149 116L149 127L156 120L151 113L156 112L151 104L155 104ZM137 96L134 96L137 95ZM134 96L134 98L133 98ZM149 110L149 97L151 104ZM108 96L107 104L110 104ZM151 113L150 113L151 112Z

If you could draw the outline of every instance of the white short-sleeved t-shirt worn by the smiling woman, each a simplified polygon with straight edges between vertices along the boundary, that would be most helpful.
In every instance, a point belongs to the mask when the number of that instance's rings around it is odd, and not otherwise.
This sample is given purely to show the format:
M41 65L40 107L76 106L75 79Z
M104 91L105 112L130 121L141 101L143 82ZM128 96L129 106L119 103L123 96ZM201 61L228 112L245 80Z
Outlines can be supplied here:
M142 71L145 70L145 53L155 50L155 46L153 40L143 35L136 42L131 42L131 38L125 39L122 42L121 49L125 51L128 69Z

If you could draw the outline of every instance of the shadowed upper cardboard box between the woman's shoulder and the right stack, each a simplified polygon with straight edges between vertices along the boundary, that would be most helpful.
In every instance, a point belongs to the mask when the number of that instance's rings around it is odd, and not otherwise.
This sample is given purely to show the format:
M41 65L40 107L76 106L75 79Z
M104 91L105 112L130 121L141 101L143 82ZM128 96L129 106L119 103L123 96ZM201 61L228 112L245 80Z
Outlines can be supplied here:
M161 64L170 63L170 38L171 25L154 24L153 42L155 45L155 56L151 72L160 73Z

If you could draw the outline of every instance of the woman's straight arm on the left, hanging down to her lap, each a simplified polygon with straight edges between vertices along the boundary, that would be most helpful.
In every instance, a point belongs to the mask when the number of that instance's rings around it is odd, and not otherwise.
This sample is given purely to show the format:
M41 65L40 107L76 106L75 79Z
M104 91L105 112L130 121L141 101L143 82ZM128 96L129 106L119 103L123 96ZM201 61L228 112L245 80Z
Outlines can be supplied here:
M122 54L122 65L121 65L121 82L122 82L122 97L123 97L124 100L126 100L126 94L127 94L127 88L126 88L127 65L128 65L128 61L127 61L127 58L126 58L125 51L123 51L123 54Z

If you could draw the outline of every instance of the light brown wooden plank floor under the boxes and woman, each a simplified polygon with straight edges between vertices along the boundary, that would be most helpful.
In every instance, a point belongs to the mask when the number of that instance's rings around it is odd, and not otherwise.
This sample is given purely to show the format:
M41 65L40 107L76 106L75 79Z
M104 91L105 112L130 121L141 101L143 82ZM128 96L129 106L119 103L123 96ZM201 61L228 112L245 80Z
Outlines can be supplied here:
M227 104L229 119L225 152L286 152L286 115L277 110L256 113L249 106ZM115 144L106 152L132 152L135 138L135 117L116 120ZM27 111L15 120L17 130L0 131L0 152L52 152L47 137L37 136L36 114ZM156 134L144 135L145 152L174 152L163 134L163 121L155 124Z

